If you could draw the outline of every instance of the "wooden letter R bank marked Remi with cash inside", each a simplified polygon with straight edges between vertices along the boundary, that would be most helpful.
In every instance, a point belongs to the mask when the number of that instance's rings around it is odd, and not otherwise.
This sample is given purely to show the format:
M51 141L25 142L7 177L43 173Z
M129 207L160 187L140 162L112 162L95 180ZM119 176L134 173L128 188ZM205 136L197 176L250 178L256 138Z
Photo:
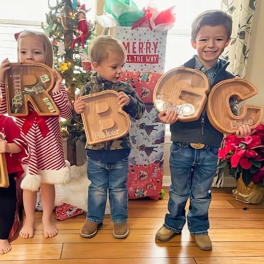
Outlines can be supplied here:
M11 63L10 66L5 73L8 115L28 115L29 102L39 115L59 115L49 94L55 84L52 69L41 63Z

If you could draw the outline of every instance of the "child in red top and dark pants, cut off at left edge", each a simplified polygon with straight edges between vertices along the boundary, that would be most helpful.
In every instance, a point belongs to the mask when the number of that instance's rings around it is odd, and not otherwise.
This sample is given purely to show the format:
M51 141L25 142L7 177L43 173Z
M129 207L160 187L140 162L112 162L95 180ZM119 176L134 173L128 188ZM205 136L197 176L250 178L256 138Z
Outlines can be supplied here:
M2 94L0 92L0 104ZM0 114L0 153L5 153L9 178L7 188L0 187L0 254L11 250L8 235L12 229L17 208L17 188L15 177L23 173L21 160L28 154L20 129L11 117Z

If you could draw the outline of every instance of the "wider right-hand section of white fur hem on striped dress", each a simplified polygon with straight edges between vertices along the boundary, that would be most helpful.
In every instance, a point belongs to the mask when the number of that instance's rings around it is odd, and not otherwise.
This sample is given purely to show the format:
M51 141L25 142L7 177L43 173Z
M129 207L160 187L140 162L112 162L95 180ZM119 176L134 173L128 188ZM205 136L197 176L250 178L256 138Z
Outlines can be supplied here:
M60 170L39 170L42 183L66 184L70 181L70 164L66 160L64 168Z

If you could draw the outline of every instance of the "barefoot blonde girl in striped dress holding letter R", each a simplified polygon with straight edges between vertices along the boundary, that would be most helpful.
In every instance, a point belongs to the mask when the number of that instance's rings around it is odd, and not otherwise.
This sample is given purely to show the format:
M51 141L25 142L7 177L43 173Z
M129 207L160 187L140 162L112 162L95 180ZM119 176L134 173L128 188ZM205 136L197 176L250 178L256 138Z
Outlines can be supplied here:
M53 68L53 50L48 37L37 31L25 30L19 33L18 62L43 63ZM10 68L6 58L0 66L0 88L3 94L3 105L0 112L6 112L6 95L4 89L4 71ZM54 71L56 83L50 94L60 110L60 116L71 116L71 104L68 99L62 78ZM57 229L52 222L54 208L54 184L64 184L70 179L69 164L66 164L60 136L59 116L40 116L33 107L27 116L17 116L16 123L21 135L29 145L30 154L26 160L25 176L22 180L25 221L20 231L22 238L34 235L35 205L37 190L42 189L43 233L45 238L54 237ZM26 130L24 128L27 128ZM44 133L47 131L47 133Z

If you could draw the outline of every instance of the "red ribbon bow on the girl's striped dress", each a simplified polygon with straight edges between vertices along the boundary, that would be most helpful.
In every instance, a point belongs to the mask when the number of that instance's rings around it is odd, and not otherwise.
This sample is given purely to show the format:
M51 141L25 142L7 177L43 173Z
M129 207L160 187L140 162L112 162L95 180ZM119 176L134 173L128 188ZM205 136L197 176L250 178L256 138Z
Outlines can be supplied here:
M43 137L45 137L49 132L48 126L46 124L46 120L48 118L50 118L50 116L38 115L35 111L30 111L30 113L26 116L24 124L22 125L22 132L24 134L27 134L27 132L30 130L30 128L36 121L40 132L42 133Z

